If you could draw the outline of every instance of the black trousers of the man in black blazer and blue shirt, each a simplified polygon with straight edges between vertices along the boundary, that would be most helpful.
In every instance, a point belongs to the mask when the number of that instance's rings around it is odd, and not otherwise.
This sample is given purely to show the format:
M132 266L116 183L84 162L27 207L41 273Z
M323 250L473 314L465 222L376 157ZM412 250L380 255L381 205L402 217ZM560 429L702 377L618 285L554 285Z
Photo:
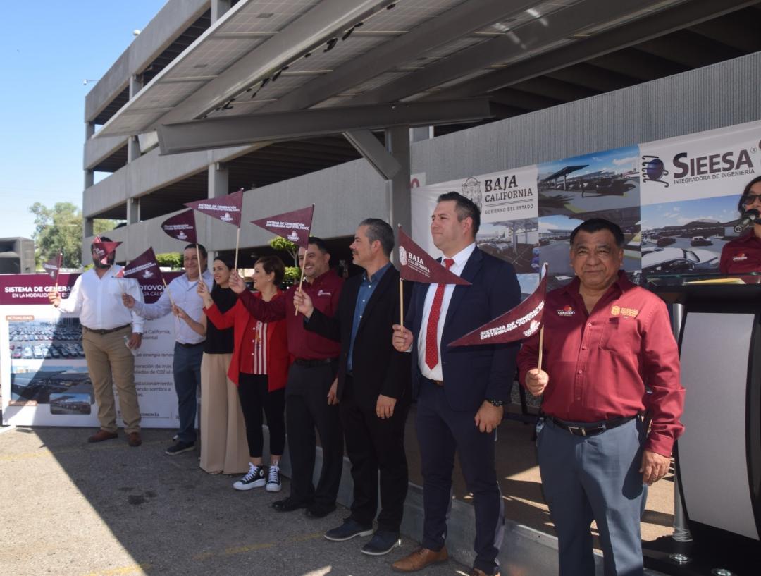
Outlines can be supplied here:
M404 452L404 424L409 402L396 402L393 416L381 420L375 407L362 408L355 401L354 382L347 376L339 412L352 462L354 501L352 519L370 526L377 512L380 471L380 514L378 529L399 533L407 497L407 456Z

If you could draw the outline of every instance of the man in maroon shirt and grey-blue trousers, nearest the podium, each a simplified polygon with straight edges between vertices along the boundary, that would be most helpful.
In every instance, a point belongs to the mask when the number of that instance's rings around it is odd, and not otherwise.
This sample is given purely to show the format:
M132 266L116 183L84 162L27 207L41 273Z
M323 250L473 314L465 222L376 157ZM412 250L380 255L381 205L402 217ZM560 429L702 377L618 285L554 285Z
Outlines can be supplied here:
M560 576L594 574L592 520L606 576L643 574L639 521L647 486L668 471L683 430L684 389L667 309L619 270L623 245L619 226L604 219L572 232L576 277L547 295L543 370L538 334L518 354L521 382L543 395L537 451Z

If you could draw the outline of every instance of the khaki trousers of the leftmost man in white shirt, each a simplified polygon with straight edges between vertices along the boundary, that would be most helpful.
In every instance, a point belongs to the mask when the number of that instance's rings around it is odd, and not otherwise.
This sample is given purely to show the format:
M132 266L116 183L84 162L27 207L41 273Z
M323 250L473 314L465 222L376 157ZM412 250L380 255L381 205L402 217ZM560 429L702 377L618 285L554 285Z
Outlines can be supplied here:
M97 419L100 422L100 430L107 432L116 432L114 384L119 393L119 409L122 411L124 430L128 434L140 431L140 407L135 390L135 357L124 345L124 337L130 334L130 326L109 334L97 334L82 326L82 348L93 382Z

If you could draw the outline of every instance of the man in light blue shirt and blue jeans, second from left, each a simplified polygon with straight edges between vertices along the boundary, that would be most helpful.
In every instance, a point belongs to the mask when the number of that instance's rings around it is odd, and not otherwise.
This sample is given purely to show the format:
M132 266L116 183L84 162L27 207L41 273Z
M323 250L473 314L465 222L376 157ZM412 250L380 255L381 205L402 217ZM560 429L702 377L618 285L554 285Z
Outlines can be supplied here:
M200 254L199 263L197 254ZM199 266L200 264L200 266ZM185 322L177 309L182 309L196 324L205 322L203 300L196 293L200 270L203 281L212 286L214 278L206 269L206 248L202 245L189 244L183 251L185 274L172 280L153 304L145 304L129 294L122 296L124 306L143 318L160 318L170 312L174 313L174 390L177 392L177 412L180 416L180 430L177 443L167 448L169 456L177 456L196 447L196 391L201 386L201 360L205 334L199 334ZM205 324L204 324L205 325Z

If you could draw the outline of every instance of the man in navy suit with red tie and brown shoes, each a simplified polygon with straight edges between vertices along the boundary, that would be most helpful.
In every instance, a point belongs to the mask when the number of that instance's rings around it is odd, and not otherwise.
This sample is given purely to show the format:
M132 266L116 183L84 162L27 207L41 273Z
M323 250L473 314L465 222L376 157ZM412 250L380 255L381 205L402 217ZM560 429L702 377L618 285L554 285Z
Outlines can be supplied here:
M394 562L412 572L447 559L447 511L454 452L476 513L476 559L470 576L495 576L504 514L494 465L495 430L509 400L517 344L447 347L521 301L511 264L476 247L480 211L457 192L438 197L431 237L442 264L470 286L416 283L406 327L394 326L396 350L412 358L412 394L423 473L422 546Z

